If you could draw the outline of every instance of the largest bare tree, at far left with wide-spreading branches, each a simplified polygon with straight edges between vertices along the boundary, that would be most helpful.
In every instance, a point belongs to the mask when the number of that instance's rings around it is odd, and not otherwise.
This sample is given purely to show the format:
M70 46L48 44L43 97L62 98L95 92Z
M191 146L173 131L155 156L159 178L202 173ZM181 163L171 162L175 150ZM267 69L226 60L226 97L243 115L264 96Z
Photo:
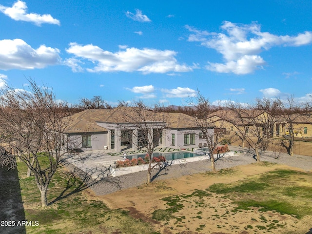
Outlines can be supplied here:
M52 89L29 82L30 91L9 86L0 90L0 139L13 152L0 155L0 165L14 168L16 158L25 163L35 176L44 207L49 183L65 153L63 133L70 118L64 118L61 110L66 103L57 101Z

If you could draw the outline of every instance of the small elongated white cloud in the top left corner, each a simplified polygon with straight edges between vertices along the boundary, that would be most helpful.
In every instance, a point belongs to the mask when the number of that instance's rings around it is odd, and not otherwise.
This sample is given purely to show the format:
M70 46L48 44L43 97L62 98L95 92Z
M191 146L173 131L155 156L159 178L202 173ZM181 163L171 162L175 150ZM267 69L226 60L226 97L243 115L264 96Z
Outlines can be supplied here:
M39 15L36 13L27 14L26 10L27 10L26 2L20 0L15 2L12 7L5 7L0 5L0 11L13 20L33 22L38 26L41 26L42 23L60 25L59 20L54 19L49 14L45 15Z

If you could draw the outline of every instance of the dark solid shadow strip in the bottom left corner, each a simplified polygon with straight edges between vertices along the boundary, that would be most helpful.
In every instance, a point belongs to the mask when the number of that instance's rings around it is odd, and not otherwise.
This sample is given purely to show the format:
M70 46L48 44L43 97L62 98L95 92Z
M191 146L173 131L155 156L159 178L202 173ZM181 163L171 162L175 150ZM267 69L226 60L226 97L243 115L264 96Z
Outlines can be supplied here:
M18 225L19 221L25 220L25 212L21 197L20 179L18 168L7 170L0 167L0 220L8 221L0 228L1 234L26 234L24 225ZM10 223L14 221L15 225ZM11 226L8 226L11 224Z

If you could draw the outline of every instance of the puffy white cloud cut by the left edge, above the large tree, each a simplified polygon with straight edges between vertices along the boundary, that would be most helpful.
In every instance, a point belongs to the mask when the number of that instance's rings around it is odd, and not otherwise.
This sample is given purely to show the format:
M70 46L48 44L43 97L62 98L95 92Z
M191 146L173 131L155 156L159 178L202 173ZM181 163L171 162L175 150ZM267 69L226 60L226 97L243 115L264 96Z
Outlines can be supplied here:
M60 62L59 49L40 45L33 49L22 39L0 40L0 69L35 69Z

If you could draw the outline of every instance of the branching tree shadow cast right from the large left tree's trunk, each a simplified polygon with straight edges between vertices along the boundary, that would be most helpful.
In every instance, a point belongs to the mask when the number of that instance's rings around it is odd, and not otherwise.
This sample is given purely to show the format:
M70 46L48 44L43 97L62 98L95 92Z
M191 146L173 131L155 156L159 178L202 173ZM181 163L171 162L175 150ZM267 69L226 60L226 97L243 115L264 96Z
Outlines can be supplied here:
M66 188L64 188L59 196L51 201L48 205L52 205L61 199L86 190L91 186L94 186L103 181L114 184L117 186L117 188L120 189L119 179L108 176L110 168L94 168L88 172L83 172L71 164L67 164L66 167L69 170L67 172L69 174L69 178L67 180Z

